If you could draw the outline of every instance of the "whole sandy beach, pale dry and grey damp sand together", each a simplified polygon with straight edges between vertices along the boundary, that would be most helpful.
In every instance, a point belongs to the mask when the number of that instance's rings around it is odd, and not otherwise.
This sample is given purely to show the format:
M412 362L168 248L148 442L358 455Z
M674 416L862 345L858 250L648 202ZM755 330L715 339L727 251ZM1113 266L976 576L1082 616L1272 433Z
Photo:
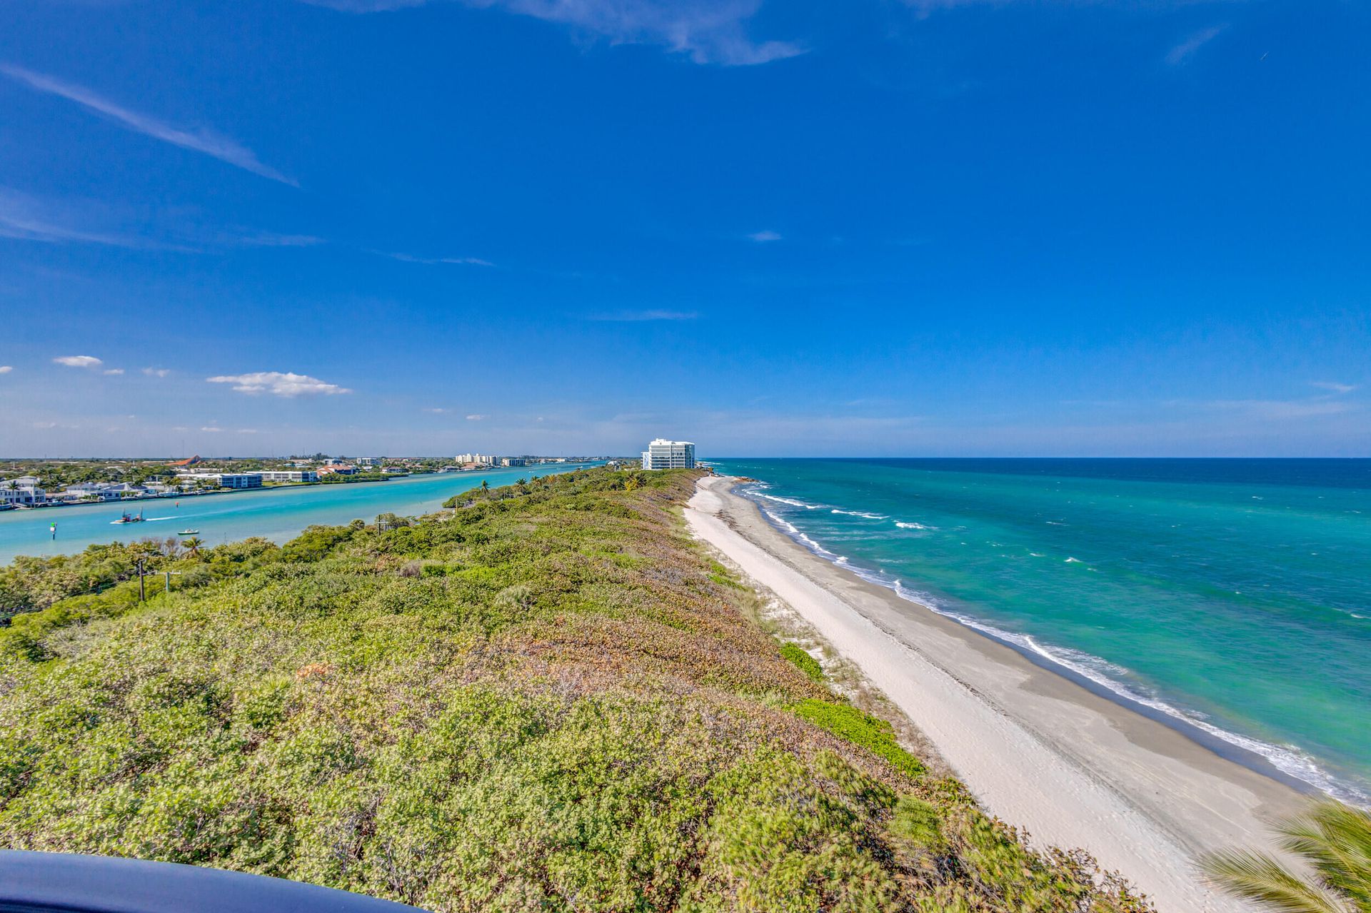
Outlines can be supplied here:
M1248 909L1200 880L1196 855L1267 844L1267 823L1305 796L824 561L735 483L701 481L686 511L695 536L856 664L988 812L1035 842L1084 847L1158 910Z

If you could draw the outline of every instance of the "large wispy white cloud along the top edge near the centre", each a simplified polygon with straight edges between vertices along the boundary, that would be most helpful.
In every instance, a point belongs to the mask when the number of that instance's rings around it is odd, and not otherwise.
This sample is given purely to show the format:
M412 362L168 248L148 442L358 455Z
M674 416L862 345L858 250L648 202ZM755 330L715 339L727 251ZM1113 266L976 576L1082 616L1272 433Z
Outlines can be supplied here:
M569 26L579 36L610 44L650 44L695 63L754 66L805 53L792 41L754 41L746 23L761 0L463 0L469 7ZM381 12L424 0L306 0L344 12Z

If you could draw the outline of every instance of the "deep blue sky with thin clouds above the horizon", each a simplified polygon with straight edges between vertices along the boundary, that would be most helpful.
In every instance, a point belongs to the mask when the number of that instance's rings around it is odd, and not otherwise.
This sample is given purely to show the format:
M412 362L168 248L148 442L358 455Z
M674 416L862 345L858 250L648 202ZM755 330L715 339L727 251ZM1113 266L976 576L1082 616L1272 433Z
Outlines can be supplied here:
M0 454L1371 454L1361 3L0 21Z

